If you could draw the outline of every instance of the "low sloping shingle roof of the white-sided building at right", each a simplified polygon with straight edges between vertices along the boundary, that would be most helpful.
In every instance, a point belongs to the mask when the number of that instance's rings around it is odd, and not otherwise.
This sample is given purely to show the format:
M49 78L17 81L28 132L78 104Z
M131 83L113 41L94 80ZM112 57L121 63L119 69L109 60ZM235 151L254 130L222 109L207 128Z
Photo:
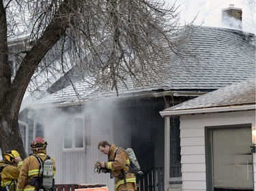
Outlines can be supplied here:
M231 84L190 99L164 111L177 111L184 109L199 109L210 107L229 107L238 105L255 105L255 77Z

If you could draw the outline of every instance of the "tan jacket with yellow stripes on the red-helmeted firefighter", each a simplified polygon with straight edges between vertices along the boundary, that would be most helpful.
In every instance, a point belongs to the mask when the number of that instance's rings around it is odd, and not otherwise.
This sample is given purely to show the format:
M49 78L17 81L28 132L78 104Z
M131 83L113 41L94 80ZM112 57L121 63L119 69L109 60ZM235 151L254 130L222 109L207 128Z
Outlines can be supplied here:
M46 159L46 150L39 150L38 152L34 152L37 154L43 161ZM56 166L55 160L50 158L53 161L53 176L55 175ZM29 185L29 182L33 177L41 177L42 171L40 171L40 162L38 158L31 155L25 158L23 161L23 166L20 168L20 176L18 177L17 190L25 190L30 191L34 190L35 187Z

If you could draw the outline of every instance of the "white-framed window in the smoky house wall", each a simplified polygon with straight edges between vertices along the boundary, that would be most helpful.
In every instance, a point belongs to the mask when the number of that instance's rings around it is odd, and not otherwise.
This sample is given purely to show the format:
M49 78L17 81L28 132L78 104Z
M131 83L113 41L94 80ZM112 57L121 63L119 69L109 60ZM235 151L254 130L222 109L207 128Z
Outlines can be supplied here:
M85 150L84 120L75 117L63 124L63 150Z

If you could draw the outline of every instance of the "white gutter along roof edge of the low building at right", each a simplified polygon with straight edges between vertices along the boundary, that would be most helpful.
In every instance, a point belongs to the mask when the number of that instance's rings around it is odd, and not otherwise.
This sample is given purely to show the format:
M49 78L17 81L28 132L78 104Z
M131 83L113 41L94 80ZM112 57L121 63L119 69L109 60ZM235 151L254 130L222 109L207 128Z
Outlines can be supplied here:
M189 114L205 114L205 113L217 113L225 111L244 111L244 110L255 110L256 105L240 105L240 106L229 106L229 107L210 107L210 108L199 108L199 109L181 109L181 110L168 110L160 111L160 116L181 116Z

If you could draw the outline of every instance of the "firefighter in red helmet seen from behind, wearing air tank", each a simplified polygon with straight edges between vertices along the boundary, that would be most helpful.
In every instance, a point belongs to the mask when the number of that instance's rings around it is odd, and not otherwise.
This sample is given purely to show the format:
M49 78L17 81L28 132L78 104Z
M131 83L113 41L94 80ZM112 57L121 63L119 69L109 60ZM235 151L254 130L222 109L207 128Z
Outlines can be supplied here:
M35 137L30 147L33 154L25 158L23 166L20 168L17 191L38 191L40 189L46 190L45 188L42 188L42 182L44 182L42 177L42 162L44 162L44 160L47 158L53 162L53 177L55 175L55 160L46 155L47 142L44 141L44 138ZM51 182L51 189L48 190L55 190L54 179L52 179Z

